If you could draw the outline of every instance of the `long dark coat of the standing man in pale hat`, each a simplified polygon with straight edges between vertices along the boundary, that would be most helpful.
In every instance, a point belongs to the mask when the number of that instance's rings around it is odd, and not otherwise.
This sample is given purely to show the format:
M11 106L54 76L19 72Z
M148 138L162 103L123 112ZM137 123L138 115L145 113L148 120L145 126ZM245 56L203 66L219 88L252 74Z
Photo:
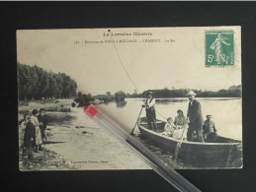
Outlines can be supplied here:
M188 117L190 120L190 128L203 129L204 119L201 110L201 103L198 100L194 100L192 104L189 102Z

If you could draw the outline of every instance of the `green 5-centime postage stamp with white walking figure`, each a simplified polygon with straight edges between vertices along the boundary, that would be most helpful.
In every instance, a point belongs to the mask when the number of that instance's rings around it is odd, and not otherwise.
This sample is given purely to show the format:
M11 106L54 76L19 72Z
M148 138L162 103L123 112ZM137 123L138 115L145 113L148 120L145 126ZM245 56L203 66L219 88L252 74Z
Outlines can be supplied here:
M206 66L234 66L233 31L206 32Z

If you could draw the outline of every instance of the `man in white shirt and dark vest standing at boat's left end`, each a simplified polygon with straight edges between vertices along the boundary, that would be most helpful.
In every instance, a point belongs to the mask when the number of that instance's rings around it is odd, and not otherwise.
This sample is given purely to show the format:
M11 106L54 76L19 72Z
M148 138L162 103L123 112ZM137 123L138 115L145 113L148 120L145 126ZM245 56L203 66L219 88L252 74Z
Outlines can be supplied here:
M152 92L147 93L147 98L145 100L145 104L142 105L142 107L145 107L145 112L146 112L146 120L148 124L148 128L156 131L156 115L155 115L155 99L152 96Z

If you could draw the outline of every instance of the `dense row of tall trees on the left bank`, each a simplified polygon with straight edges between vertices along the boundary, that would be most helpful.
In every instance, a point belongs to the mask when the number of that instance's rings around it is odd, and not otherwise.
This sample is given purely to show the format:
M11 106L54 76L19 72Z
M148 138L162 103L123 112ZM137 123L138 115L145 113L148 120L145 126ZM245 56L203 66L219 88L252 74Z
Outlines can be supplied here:
M67 98L76 96L77 84L64 73L53 73L43 68L17 64L19 99Z

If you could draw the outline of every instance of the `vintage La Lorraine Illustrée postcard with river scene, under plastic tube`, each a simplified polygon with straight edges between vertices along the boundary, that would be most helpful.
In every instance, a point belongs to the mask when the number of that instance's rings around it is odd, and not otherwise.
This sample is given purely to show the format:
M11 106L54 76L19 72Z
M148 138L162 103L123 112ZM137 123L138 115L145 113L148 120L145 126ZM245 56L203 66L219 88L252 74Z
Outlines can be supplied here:
M240 27L17 31L22 171L147 169L97 104L176 169L242 168Z

